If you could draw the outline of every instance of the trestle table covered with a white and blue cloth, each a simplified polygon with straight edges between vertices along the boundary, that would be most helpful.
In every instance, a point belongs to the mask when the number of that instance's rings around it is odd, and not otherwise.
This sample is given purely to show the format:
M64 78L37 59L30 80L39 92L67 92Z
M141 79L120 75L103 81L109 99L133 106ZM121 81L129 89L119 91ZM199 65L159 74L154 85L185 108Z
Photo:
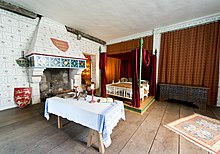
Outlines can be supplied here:
M105 147L111 144L110 134L120 119L125 120L124 105L122 101L112 100L111 98L94 97L100 100L99 103L89 103L91 96L87 100L80 98L48 98L45 102L44 116L49 120L49 114L58 116L58 128L62 127L61 119L67 118L83 126L90 128L87 145L92 144L93 131L98 133L99 152L104 153Z

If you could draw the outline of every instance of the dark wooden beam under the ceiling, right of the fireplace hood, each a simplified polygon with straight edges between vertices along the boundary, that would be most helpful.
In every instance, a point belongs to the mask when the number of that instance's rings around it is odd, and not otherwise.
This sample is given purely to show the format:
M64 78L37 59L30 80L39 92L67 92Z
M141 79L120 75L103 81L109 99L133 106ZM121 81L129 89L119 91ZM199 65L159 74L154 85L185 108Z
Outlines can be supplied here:
M76 34L76 35L79 35L79 34L80 34L82 37L85 37L85 38L87 38L87 39L89 39L89 40L92 40L92 41L94 41L94 42L100 43L100 44L102 44L102 45L106 45L106 42L105 42L105 41L103 41L103 40L101 40L101 39L98 39L98 38L96 38L96 37L94 37L94 36L91 36L91 35L89 35L89 34L83 33L83 32L81 32L81 31L76 30L76 29L71 28L71 27L67 27L67 26L66 26L66 29L67 29L68 32L71 32L71 33Z

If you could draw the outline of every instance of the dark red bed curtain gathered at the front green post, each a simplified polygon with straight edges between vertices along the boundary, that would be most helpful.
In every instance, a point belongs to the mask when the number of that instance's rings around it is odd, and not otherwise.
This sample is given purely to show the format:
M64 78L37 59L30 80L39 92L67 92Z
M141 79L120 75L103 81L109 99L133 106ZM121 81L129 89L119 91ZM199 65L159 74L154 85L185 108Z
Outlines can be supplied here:
M138 75L139 75L139 49L133 50L133 61L132 61L132 102L131 105L134 107L140 107L140 91L138 88Z

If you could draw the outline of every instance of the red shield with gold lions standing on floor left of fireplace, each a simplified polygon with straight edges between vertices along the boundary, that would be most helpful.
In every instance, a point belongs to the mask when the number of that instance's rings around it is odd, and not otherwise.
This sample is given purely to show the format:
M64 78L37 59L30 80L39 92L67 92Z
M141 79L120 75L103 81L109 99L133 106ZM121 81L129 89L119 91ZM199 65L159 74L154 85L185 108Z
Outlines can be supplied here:
M32 88L14 88L14 100L20 107L24 108L30 103Z

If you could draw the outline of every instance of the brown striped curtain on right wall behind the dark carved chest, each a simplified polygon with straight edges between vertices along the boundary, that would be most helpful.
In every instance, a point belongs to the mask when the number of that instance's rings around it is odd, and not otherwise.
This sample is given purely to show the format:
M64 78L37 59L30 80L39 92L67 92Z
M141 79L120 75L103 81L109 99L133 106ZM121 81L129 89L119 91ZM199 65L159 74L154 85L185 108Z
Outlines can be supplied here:
M220 21L161 36L158 82L206 86L216 105L219 80Z

